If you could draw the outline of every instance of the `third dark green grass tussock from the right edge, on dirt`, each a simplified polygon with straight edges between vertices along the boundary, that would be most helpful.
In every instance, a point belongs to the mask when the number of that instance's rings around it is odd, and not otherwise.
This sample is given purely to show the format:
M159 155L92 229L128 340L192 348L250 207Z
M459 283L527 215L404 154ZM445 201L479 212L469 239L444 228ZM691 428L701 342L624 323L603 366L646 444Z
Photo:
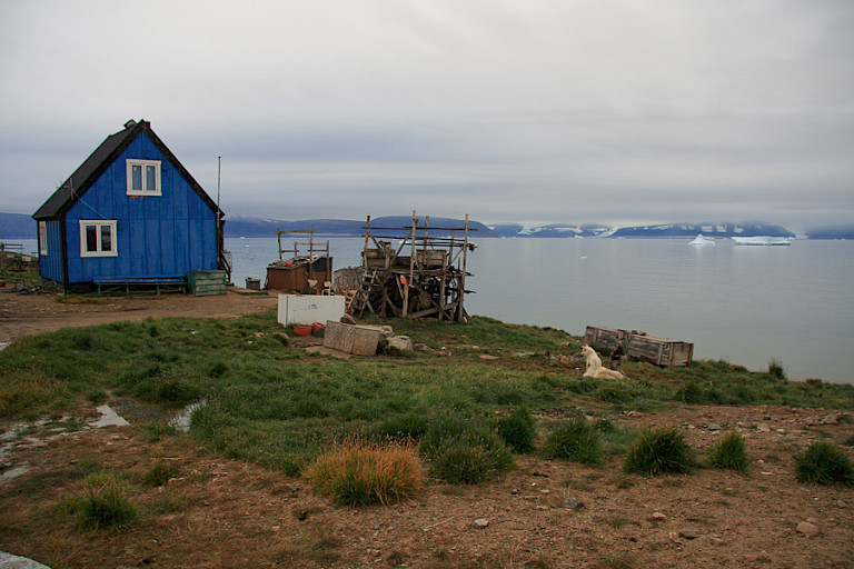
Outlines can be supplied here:
M629 447L623 462L626 473L681 475L696 465L694 449L674 427L643 432Z

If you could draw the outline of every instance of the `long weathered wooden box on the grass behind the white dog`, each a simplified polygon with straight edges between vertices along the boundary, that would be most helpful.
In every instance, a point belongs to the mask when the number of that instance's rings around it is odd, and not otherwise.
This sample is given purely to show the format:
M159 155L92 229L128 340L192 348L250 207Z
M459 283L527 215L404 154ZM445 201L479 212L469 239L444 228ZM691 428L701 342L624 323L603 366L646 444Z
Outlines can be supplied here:
M691 366L694 357L694 345L691 342L632 333L628 330L614 328L588 326L584 332L584 342L605 353L614 351L619 346L627 357L662 367Z

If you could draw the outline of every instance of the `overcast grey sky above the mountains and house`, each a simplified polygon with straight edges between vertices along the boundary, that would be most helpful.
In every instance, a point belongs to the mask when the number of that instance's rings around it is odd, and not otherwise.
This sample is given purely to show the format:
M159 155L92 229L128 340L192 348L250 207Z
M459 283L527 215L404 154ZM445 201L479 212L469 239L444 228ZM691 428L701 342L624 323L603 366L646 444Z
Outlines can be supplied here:
M238 6L239 4L239 6ZM0 211L146 119L227 214L854 222L851 0L0 1Z

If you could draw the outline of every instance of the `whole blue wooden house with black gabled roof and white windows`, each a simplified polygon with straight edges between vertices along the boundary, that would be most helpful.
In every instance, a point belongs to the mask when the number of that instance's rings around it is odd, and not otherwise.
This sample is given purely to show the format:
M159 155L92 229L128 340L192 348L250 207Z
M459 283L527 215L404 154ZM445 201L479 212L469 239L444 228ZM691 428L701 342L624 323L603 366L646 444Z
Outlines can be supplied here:
M107 137L32 217L41 276L66 290L227 268L222 212L145 120Z

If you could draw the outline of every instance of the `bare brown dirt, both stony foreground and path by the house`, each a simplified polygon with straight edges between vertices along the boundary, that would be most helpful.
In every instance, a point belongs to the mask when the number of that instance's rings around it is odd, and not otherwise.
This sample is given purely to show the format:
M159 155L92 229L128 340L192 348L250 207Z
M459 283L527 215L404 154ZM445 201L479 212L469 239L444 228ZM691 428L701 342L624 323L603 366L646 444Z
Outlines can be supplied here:
M8 297L0 296L0 341L60 326L275 306L235 293L95 306ZM0 460L0 473L12 465L32 468L0 486L0 550L54 569L854 567L854 489L804 486L793 471L794 455L814 440L848 441L854 413L691 406L612 419L677 426L701 453L725 430L738 430L752 469L644 478L623 475L618 458L585 467L526 456L484 486L433 481L414 500L352 509L318 497L300 479L206 455L188 436L149 442L132 418L127 427L81 431L48 425L11 441ZM1 425L0 435L9 427ZM133 496L142 520L120 532L86 531L57 513L57 505L86 491L76 472L90 459L137 477L157 461L180 468L165 487ZM570 499L583 507L570 508Z

